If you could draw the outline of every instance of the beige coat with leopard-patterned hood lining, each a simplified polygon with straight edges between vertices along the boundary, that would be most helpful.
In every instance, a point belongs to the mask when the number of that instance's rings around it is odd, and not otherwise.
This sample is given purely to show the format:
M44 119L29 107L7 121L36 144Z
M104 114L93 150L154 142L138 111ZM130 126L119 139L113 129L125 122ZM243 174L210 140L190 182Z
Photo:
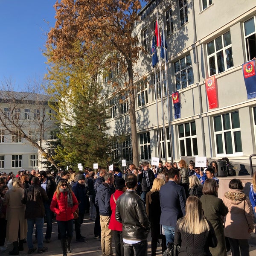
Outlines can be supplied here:
M225 236L233 239L250 239L249 228L254 229L250 200L242 190L230 189L223 198L228 208L224 219Z

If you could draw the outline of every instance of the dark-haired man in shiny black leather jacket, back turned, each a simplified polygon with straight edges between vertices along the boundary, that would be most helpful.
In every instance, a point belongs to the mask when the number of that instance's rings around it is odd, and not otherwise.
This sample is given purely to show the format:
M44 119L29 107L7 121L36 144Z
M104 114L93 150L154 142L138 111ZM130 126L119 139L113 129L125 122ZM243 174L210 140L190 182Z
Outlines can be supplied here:
M137 177L128 174L127 190L116 201L116 220L123 224L124 254L147 256L150 222L143 200L136 194Z

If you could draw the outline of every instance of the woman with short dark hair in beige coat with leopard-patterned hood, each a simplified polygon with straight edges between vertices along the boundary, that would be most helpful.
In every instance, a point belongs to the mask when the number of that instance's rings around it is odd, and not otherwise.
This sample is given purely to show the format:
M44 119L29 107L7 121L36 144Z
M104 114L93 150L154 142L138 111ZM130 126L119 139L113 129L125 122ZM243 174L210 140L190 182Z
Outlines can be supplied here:
M253 232L253 211L250 200L243 192L239 179L230 180L230 190L225 193L223 201L229 209L225 218L225 236L230 241L232 256L249 256L250 233ZM239 253L240 251L240 253Z

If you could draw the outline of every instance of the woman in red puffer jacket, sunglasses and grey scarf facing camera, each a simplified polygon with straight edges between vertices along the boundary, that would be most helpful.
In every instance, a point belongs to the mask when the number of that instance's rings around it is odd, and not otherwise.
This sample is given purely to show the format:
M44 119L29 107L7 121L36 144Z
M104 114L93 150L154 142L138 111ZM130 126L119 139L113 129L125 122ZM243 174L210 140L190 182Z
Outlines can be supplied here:
M75 194L68 186L66 180L60 180L54 192L50 209L56 213L56 220L61 235L63 256L70 253L70 242L73 237L74 212L78 208Z

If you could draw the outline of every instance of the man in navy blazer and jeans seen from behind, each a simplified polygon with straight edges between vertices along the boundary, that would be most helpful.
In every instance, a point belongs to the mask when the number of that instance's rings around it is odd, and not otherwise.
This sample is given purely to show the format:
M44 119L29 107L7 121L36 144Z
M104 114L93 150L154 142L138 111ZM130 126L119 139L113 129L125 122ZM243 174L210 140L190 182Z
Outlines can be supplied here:
M177 220L185 215L186 195L180 184L180 170L173 167L168 171L169 181L160 188L160 224L166 235L166 244L174 241Z

